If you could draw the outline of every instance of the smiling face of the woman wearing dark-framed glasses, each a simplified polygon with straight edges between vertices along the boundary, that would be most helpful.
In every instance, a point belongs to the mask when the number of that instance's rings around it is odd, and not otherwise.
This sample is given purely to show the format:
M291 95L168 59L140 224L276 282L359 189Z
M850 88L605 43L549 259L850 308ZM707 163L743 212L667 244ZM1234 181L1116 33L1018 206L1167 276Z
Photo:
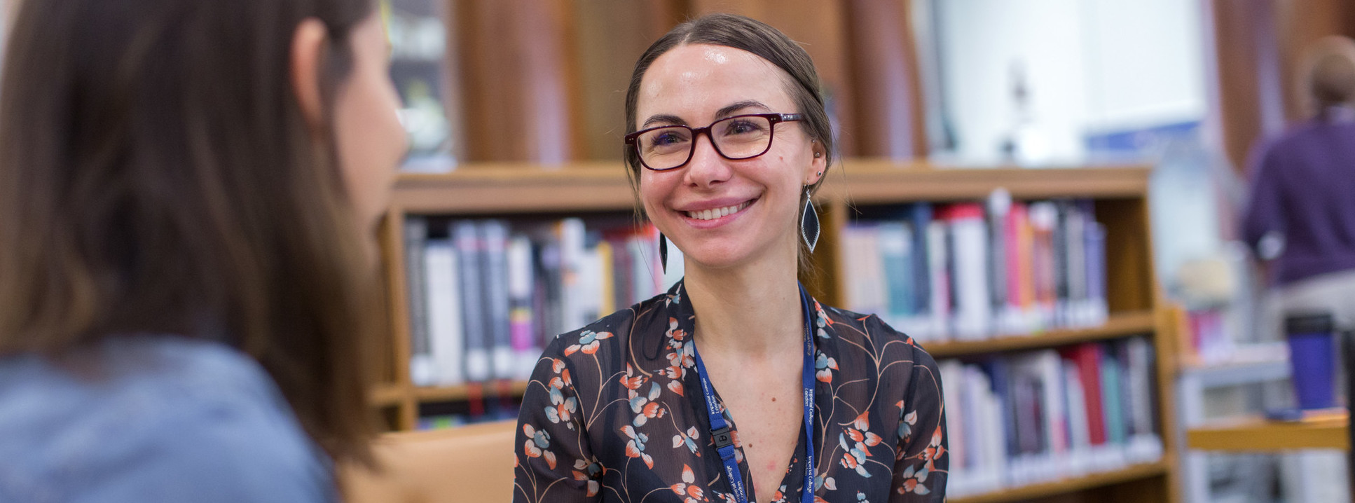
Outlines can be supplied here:
M678 46L645 72L635 126L703 127L730 115L799 113L786 92L787 80L785 71L745 50ZM825 157L814 157L816 149L821 145L810 141L799 122L775 125L771 149L744 160L721 157L702 134L686 165L640 169L640 199L659 230L698 264L726 268L768 256L794 260L802 187L818 180L816 172L827 164Z

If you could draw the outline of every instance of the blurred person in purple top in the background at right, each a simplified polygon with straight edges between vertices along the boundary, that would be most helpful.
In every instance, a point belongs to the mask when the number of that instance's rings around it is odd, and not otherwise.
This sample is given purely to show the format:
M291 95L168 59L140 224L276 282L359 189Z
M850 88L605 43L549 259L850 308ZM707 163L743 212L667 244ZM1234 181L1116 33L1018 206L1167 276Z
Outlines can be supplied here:
M1249 172L1243 237L1268 268L1267 331L1297 310L1355 323L1355 41L1318 41L1306 68L1313 117L1262 145Z

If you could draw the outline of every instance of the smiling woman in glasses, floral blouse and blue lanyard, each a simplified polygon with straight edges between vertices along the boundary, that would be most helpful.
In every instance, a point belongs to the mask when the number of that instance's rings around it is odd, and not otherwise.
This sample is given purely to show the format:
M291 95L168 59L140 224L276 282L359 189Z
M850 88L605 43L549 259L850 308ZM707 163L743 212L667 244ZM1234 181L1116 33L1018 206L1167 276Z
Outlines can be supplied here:
M944 499L931 355L795 279L835 159L804 49L743 16L678 26L637 62L626 121L633 186L687 277L546 348L515 502Z

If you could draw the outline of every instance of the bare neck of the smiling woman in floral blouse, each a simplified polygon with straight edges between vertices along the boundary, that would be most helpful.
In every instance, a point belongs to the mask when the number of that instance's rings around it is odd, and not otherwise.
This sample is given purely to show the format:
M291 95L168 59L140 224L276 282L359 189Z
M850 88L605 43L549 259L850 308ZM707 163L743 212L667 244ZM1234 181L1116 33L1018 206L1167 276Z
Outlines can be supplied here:
M804 319L794 251L736 268L688 262L684 285L703 353L770 357L798 347Z

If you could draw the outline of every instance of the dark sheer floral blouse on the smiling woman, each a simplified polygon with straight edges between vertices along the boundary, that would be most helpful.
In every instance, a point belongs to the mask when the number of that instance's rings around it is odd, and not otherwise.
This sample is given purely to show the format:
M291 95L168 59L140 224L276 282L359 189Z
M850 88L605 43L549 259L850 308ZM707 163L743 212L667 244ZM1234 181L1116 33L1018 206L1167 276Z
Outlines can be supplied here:
M875 316L813 306L814 500L942 502L950 456L936 363ZM518 418L514 502L734 503L710 439L694 327L678 282L557 336ZM752 480L737 418L724 414L738 469ZM801 500L804 458L802 428L772 502ZM756 502L752 484L744 487Z

